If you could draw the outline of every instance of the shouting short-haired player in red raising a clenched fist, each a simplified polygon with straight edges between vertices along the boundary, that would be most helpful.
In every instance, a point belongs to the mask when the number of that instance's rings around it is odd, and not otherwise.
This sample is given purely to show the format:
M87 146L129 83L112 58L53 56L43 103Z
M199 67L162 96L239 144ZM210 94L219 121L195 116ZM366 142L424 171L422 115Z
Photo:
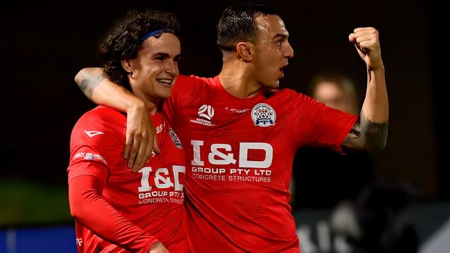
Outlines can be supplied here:
M164 103L163 111L187 149L184 189L192 252L299 252L288 191L298 147L341 151L341 145L385 145L388 100L377 30L357 28L349 37L368 70L359 122L357 116L306 95L277 90L282 68L294 56L288 37L273 6L227 8L217 26L222 71L213 78L180 75ZM122 111L138 103L98 78L98 71L78 73L91 82L81 87L85 93L96 86L95 93L88 94L94 102ZM116 99L108 99L110 95ZM133 136L130 153L152 144L152 138L140 144L141 130L128 127Z

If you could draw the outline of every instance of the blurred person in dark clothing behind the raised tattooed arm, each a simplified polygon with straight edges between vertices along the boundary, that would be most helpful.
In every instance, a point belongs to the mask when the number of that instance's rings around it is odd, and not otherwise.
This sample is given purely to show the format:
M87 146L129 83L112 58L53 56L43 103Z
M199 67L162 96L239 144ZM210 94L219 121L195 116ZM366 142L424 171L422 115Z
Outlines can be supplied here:
M359 114L357 89L341 73L318 73L307 93L334 109ZM342 199L356 198L372 180L374 167L368 151L343 147L343 153L345 156L321 147L302 147L297 151L291 185L294 210L335 207Z

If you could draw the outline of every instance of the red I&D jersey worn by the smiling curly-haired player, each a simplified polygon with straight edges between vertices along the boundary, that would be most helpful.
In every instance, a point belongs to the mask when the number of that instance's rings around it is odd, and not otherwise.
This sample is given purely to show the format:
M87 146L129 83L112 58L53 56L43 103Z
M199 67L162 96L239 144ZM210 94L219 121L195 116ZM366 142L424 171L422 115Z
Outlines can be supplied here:
M67 171L71 211L81 213L75 217L78 252L148 252L156 241L171 252L189 252L181 142L162 114L152 115L162 152L134 174L123 159L126 121L126 115L98 106L73 128ZM94 191L80 187L89 180Z

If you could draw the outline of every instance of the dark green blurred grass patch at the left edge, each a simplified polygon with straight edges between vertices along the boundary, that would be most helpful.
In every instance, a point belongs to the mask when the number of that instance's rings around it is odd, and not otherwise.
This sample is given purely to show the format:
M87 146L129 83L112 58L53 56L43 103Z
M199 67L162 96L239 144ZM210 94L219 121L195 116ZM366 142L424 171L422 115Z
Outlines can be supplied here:
M0 227L71 223L68 189L30 181L0 181Z

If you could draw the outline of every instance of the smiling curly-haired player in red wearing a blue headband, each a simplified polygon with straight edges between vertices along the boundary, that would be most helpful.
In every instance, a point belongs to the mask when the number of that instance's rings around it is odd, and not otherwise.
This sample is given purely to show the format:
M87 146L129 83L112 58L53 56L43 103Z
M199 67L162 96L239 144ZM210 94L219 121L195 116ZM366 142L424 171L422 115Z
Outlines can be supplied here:
M134 174L123 158L127 116L105 106L82 115L71 135L67 169L78 252L189 252L183 147L161 113L179 73L178 32L170 13L132 11L102 41L102 78L142 101L163 152Z

